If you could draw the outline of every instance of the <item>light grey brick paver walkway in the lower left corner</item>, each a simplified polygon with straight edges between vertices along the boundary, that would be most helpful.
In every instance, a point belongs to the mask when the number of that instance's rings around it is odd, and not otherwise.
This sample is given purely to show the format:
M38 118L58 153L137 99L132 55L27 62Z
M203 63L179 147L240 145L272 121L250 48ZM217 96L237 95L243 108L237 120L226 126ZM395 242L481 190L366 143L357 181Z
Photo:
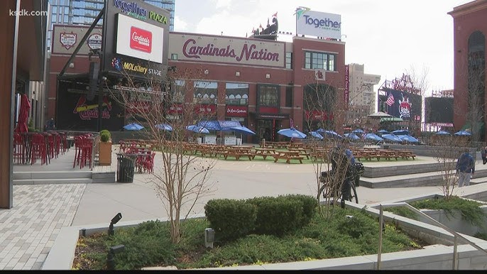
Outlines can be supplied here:
M0 270L40 270L62 226L71 226L85 184L14 185L0 209Z

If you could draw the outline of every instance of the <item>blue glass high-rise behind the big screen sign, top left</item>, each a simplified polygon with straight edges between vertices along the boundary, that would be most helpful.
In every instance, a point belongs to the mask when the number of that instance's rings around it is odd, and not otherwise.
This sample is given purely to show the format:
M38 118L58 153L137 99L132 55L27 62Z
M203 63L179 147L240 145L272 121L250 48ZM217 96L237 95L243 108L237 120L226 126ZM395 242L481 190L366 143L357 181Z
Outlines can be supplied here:
M105 0L49 0L50 23L47 39L48 51L50 51L50 46L52 45L51 38L53 36L53 26L55 24L90 26L93 23L94 18L97 18L97 15L103 9L104 1ZM145 0L147 4L170 11L170 31L174 31L175 1L176 0ZM102 26L102 24L103 19L100 19L98 25Z

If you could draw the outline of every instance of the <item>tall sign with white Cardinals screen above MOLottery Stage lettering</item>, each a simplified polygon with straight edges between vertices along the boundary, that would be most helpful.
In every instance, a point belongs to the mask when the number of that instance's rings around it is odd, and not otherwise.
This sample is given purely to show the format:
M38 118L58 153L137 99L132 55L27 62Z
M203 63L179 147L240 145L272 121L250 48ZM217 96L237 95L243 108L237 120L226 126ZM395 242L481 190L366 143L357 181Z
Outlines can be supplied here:
M165 78L169 16L169 11L141 0L109 0L104 21L104 70Z

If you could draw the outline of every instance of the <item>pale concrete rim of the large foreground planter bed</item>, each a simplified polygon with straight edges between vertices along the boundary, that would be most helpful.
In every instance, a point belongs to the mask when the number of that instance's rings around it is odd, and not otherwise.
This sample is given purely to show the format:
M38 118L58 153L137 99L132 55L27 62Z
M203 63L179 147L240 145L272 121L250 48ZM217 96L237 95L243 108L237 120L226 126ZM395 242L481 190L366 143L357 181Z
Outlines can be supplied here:
M378 209L363 207L360 204L349 204L357 210L366 210L372 216L378 216ZM452 270L454 237L448 231L401 217L390 212L384 212L385 221L394 221L408 234L424 239L431 246L415 251L400 251L383 253L381 255L381 270ZM202 218L204 215L195 216ZM144 220L149 221L149 220ZM160 220L164 221L164 220ZM165 220L168 221L168 220ZM141 221L126 221L117 224L115 229L121 227L137 226ZM89 226L62 227L60 234L55 239L42 270L70 270L75 258L76 244L79 237L107 231L106 224ZM466 236L483 249L487 248L487 241ZM457 252L458 270L486 270L486 253L476 250L464 241L459 241ZM355 256L345 258L332 258L324 260L301 261L292 263L270 263L263 265L241 265L225 268L203 268L202 270L376 270L378 268L378 255Z

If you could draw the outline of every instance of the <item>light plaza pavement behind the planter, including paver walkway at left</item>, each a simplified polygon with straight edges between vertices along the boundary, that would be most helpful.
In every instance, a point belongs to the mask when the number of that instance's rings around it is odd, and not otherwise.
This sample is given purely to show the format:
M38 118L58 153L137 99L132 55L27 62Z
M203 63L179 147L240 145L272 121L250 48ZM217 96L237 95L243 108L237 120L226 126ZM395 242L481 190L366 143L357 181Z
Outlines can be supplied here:
M160 157L156 156L155 161L157 166ZM112 161L112 170L113 167L116 169L116 161ZM118 212L122 214L121 221L167 217L151 180L152 175L136 173L132 183L14 185L13 208L0 209L0 270L40 269L62 226L108 226ZM308 164L217 160L209 183L214 183L212 194L202 197L190 215L204 214L204 204L209 199L278 194L314 196L316 192L313 165ZM487 184L478 184L456 191L462 195L486 190ZM357 192L361 204L442 194L441 187L358 187Z

